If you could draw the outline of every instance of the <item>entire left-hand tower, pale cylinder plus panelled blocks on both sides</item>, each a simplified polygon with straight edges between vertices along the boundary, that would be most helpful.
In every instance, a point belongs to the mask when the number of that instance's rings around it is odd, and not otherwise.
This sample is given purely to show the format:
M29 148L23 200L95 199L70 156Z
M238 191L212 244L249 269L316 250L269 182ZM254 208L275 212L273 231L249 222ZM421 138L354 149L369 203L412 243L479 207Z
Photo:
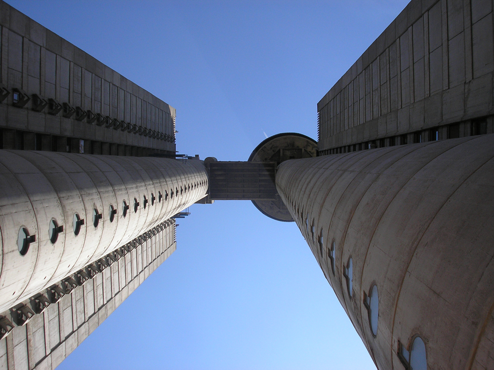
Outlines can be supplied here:
M1 369L56 368L175 250L208 186L175 115L0 1Z

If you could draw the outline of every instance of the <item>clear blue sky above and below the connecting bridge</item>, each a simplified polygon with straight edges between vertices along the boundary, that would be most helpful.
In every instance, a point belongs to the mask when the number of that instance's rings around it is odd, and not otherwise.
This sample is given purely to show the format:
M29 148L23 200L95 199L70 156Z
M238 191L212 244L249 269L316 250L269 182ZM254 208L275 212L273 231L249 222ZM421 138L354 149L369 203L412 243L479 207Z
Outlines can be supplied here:
M177 110L177 150L247 160L317 135L317 102L406 6L7 2ZM375 369L294 223L194 205L177 251L59 369Z

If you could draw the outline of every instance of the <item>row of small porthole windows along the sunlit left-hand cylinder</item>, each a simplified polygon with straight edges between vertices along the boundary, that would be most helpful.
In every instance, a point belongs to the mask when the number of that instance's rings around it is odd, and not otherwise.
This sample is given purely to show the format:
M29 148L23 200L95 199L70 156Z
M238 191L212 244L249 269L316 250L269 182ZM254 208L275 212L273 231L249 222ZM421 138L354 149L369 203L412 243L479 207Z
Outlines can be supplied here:
M191 189L195 189L198 186L206 185L207 181L202 180L199 182L195 182L194 184L188 184L188 185L182 185L180 186L180 195L183 193L190 191ZM175 193L176 196L178 196L178 187L175 187L175 190L170 189L170 198L173 198L173 194ZM154 193L151 193L151 205L154 206L156 204L156 196ZM163 194L161 191L158 191L158 202L161 203L163 199ZM165 190L165 201L168 199L168 191ZM143 207L146 209L147 204L149 200L147 199L146 195L143 195ZM137 200L137 198L134 198L134 213L137 213L137 210L140 206L140 202ZM130 206L127 204L126 200L122 201L122 216L124 218L128 214ZM109 207L109 220L110 222L115 221L115 215L117 215L117 208L114 207L113 204L110 204ZM92 213L92 224L94 227L98 227L99 221L103 218L103 214L98 211L97 208L93 209ZM76 212L72 218L72 228L74 231L74 235L79 235L81 232L81 226L84 224L84 219L81 219L79 214ZM55 219L52 219L49 222L48 226L48 236L50 238L50 242L52 244L55 244L56 241L58 240L58 235L63 232L64 227L63 225L59 225ZM25 256L26 253L29 250L29 246L31 243L34 243L36 241L36 235L30 235L28 229L25 226L21 226L19 229L19 232L17 234L17 249L19 251L19 254L21 256Z

